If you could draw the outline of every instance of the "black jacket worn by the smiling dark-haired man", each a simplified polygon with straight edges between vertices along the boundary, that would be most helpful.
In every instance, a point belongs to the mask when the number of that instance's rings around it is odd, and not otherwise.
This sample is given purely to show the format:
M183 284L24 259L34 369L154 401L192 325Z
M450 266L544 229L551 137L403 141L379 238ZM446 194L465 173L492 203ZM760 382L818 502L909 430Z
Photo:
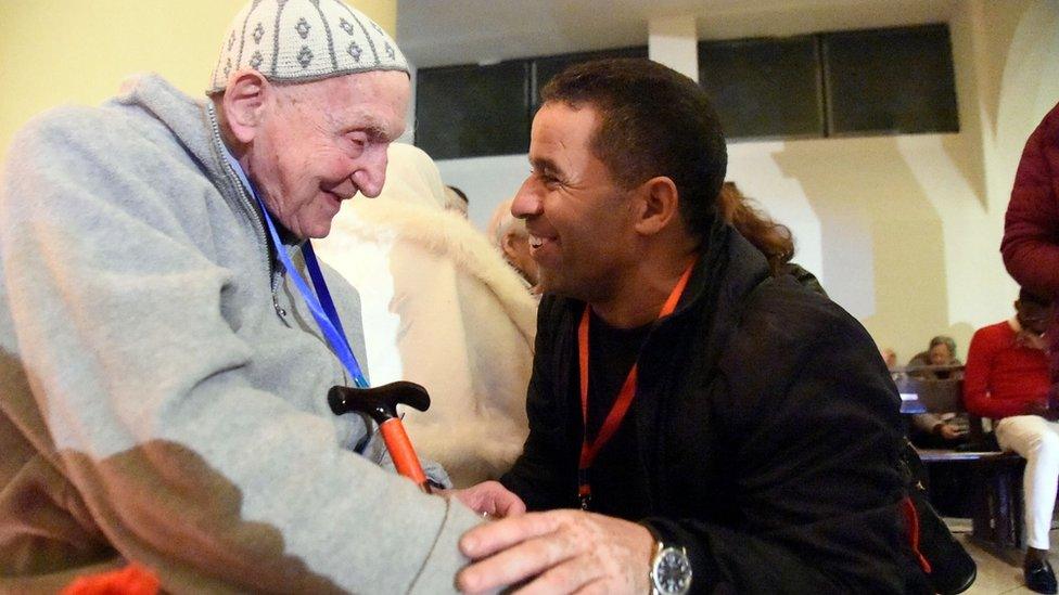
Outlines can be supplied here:
M646 489L594 476L605 512L688 547L697 593L929 592L898 507L899 398L871 338L793 277L769 276L730 228L704 245L646 340L618 430ZM501 479L531 509L578 504L584 308L540 303L530 437Z

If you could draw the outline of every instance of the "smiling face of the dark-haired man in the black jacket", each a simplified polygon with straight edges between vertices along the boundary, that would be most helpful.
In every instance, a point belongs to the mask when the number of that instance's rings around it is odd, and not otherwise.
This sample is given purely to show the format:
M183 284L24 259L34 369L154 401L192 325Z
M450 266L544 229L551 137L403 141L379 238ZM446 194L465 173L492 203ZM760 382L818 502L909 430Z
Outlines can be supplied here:
M546 103L533 119L533 172L511 205L526 220L541 290L592 303L617 294L636 259L630 191L592 153L598 127L591 106Z

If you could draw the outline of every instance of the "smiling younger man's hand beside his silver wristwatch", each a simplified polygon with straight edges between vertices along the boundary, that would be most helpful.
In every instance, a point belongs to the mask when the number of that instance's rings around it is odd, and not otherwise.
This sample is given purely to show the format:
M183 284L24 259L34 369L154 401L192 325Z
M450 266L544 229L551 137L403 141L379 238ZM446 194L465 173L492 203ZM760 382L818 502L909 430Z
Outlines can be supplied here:
M480 525L460 539L475 560L456 577L465 593L648 593L654 538L642 526L583 513L531 513Z

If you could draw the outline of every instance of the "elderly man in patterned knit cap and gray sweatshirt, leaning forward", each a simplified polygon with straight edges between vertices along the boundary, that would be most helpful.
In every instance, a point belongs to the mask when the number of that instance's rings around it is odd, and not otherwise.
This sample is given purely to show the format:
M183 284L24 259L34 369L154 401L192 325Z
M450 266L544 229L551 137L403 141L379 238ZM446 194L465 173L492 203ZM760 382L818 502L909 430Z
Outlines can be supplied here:
M209 101L145 76L21 132L0 194L0 591L130 560L173 592L454 588L481 518L380 468L365 423L328 410L362 381L359 307L307 242L379 194L408 94L359 12L255 0Z

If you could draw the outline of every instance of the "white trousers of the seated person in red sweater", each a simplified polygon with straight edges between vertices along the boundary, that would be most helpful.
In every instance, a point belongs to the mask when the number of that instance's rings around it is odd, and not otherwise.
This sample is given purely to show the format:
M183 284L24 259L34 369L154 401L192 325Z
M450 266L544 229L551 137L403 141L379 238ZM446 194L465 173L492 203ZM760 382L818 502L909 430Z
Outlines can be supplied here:
M1005 417L996 424L996 441L1005 451L1015 451L1026 460L1022 477L1026 544L1048 549L1059 482L1059 424L1039 415Z

